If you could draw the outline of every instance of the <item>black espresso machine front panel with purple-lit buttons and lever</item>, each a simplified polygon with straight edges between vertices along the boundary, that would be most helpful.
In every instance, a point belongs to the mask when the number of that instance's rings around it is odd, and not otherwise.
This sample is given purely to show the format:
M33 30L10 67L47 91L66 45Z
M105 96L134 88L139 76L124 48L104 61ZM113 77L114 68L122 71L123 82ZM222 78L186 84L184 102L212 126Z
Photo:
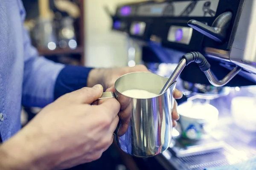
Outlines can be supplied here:
M116 9L113 28L133 38L178 51L205 47L228 51L233 40L242 0L168 0L123 4Z

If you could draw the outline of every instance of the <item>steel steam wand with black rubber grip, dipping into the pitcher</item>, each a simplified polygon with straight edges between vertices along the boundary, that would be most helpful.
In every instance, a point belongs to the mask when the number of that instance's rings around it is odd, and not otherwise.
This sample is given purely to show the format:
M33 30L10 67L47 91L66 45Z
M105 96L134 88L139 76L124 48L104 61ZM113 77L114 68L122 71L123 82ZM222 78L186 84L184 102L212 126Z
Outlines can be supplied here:
M241 68L235 67L222 80L218 80L215 77L215 75L212 73L210 69L211 65L209 64L209 62L207 61L207 59L204 57L203 54L199 52L189 52L182 56L182 59L180 60L179 64L173 71L171 77L168 79L168 81L164 85L160 94L163 94L176 81L176 79L180 76L180 73L183 71L185 66L189 65L191 62L195 62L198 64L201 71L204 72L209 82L215 87L221 87L226 85L228 82L230 82L231 79L233 79L241 71Z

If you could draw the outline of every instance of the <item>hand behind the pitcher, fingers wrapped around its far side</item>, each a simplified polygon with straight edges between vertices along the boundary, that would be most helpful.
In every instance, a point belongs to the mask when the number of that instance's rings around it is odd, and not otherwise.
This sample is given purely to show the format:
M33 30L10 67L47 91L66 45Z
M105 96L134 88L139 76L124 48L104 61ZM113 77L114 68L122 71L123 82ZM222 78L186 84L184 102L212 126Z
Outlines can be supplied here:
M92 87L95 84L102 84L104 87L104 90L106 91L115 91L114 84L116 82L116 79L118 79L120 76L132 72L137 71L145 71L150 72L144 65L136 65L134 67L122 67L122 68L108 68L108 69L93 69L90 71L87 85L89 87ZM182 93L175 89L173 96L175 99L180 99L182 97ZM120 101L120 99L118 99ZM121 99L125 100L125 99ZM119 134L123 134L125 132L125 122L127 122L129 116L127 115L127 111L129 109L129 106L131 107L131 103L128 101L125 101L126 103L129 103L127 105L121 105L121 110L119 113L119 118L121 122L124 122L121 124L121 127L119 129ZM125 103L124 102L124 103ZM177 113L177 102L175 101L174 109L172 111L172 119L173 119L173 126L177 125L177 120L179 119L179 115Z

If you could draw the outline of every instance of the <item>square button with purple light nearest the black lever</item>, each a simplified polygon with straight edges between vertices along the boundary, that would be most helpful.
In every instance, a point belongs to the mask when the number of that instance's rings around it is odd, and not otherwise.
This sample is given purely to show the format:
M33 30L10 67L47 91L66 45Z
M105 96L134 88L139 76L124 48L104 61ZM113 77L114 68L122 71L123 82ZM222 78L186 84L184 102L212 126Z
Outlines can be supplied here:
M170 26L167 40L188 45L192 37L193 28Z

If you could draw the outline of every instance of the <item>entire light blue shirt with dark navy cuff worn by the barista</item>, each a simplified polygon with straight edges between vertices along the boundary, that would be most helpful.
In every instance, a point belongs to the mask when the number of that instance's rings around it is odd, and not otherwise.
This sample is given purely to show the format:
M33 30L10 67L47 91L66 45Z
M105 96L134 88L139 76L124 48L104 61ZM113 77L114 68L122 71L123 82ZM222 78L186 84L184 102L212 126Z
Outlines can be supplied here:
M58 96L86 86L91 69L65 66L39 57L23 27L25 16L21 0L0 0L0 113L3 114L0 135L3 141L20 130L21 105L44 107Z

